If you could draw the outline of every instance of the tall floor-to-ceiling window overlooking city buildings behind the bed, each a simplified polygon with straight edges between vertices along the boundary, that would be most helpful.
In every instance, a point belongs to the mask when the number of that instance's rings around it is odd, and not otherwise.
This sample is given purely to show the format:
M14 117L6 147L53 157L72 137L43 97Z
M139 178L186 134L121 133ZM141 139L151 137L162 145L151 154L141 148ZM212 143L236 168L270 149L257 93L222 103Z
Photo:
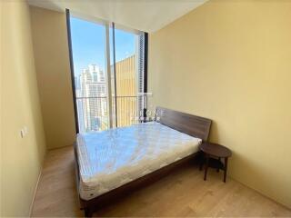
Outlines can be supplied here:
M146 34L68 17L79 132L140 122L146 107Z

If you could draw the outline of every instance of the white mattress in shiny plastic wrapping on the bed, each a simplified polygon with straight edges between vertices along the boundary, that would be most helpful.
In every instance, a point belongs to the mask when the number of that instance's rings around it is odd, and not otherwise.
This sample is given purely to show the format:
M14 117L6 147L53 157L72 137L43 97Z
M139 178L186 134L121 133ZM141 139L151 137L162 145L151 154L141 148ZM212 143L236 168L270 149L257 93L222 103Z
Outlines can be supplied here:
M198 151L201 139L156 122L77 135L79 193L90 200Z

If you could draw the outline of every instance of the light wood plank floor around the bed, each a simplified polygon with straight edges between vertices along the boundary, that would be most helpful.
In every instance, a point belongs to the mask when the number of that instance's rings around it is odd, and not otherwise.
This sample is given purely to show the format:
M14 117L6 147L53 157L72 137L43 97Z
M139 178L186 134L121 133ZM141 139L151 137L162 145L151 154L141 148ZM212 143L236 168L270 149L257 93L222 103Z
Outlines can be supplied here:
M209 170L207 181L196 165L103 208L95 216L291 216L291 211L260 193ZM32 216L83 216L75 191L73 147L48 152Z

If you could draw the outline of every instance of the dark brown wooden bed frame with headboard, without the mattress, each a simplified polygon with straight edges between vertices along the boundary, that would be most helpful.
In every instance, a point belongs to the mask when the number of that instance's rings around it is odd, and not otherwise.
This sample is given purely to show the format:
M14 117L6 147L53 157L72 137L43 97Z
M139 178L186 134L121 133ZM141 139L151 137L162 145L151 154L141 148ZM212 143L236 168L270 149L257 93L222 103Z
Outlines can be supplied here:
M211 120L206 119L204 117L199 117L192 114L185 114L182 112L173 111L170 109L166 109L163 107L156 108L156 121L160 124L165 124L172 129L176 129L179 132L189 134L191 136L195 136L197 138L201 138L203 142L208 140L208 135L211 126ZM80 173L79 173L79 163L76 152L76 144L74 144L75 151L75 175L76 175L76 185L79 195L79 203L81 206L81 210L85 211L86 217L91 217L97 208L104 206L106 203L112 203L115 200L120 199L120 197L125 196L132 191L146 186L150 183L154 183L158 179L164 177L166 174L170 173L172 170L177 168L178 166L186 163L199 153L191 154L186 156L185 158L166 165L155 172L148 173L130 183L125 183L124 185L115 188L107 193L103 193L91 200L84 200L80 197L79 193L79 181L80 181Z

